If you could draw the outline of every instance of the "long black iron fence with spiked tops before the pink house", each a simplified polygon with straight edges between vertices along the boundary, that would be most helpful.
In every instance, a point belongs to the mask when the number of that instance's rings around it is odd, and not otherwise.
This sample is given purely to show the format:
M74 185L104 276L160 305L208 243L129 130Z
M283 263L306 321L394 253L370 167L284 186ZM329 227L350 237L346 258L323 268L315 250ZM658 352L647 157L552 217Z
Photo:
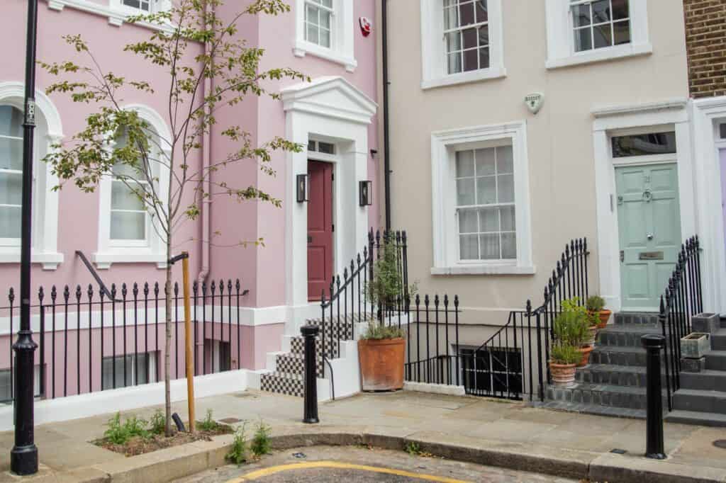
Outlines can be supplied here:
M172 379L185 374L184 305L181 287L171 287ZM192 285L195 375L241 368L240 280ZM55 398L161 381L166 347L163 284L121 284L85 289L40 287L32 305L36 350L36 397ZM20 307L9 289L0 307L0 402L14 397L12 344Z

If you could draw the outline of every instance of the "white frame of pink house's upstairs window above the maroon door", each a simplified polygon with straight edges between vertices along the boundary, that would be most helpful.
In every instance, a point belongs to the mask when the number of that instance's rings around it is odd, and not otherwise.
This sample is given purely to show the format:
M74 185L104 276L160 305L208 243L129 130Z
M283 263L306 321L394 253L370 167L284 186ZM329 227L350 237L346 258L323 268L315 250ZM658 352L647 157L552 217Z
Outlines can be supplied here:
M348 72L358 67L354 53L353 0L333 0L333 15L330 19L330 48L306 41L306 0L295 0L295 57L313 55L343 65Z

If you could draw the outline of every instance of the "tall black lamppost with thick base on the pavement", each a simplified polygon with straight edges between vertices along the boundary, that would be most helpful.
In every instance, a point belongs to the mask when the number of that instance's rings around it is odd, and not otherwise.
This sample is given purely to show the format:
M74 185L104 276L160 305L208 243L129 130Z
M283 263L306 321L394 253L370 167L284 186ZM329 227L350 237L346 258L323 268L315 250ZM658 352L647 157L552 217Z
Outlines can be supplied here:
M10 470L38 472L38 447L33 434L33 366L38 347L30 331L30 234L33 201L33 130L36 128L36 30L38 0L28 0L28 38L25 44L25 120L23 121L23 211L20 231L20 331L15 350L15 446Z

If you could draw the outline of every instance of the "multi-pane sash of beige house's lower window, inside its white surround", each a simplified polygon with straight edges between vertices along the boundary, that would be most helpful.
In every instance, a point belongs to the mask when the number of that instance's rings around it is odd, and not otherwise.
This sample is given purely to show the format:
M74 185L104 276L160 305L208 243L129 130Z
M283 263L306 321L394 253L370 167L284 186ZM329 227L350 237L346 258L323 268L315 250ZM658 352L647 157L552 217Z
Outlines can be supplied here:
M516 260L512 146L455 156L459 260Z

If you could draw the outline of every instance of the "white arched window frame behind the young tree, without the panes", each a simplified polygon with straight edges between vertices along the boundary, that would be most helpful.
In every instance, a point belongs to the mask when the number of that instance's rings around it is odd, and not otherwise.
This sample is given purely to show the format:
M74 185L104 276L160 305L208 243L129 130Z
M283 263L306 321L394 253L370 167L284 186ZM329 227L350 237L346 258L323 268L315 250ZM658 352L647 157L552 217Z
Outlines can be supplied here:
M124 107L125 110L135 110L139 117L149 123L153 131L158 135L162 152L160 157L168 160L171 157L171 150L168 149L166 141L171 139L171 134L163 118L152 108L134 104ZM169 170L166 165L159 165L159 199L168 197ZM139 240L114 240L111 239L111 191L113 189L113 176L103 176L99 183L99 234L98 251L94 253L93 260L97 268L110 268L112 263L156 263L158 268L166 268L166 247L163 239L159 236L160 228L156 220L147 221L145 241ZM148 217L151 218L151 217Z

